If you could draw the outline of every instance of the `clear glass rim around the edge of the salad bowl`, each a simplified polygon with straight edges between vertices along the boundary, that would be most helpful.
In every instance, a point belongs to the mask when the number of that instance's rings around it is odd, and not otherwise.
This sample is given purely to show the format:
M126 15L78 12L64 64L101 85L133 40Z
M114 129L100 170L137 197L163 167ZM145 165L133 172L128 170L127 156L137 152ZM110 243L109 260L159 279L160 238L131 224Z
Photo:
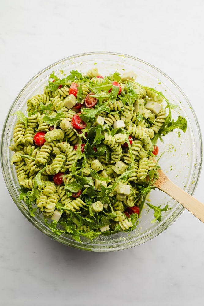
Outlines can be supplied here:
M41 69L38 73L36 73L25 85L24 87L19 91L19 93L17 94L17 96L15 97L13 103L11 104L10 108L9 108L9 111L8 111L8 114L5 118L5 121L4 121L4 125L3 125L3 128L2 128L2 135L1 135L1 167L2 167L2 174L3 174L3 177L4 177L4 181L6 183L6 187L14 201L14 203L17 205L17 199L16 197L14 196L14 194L12 194L12 192L10 192L9 190L9 184L8 184L8 181L6 179L6 174L4 172L4 164L3 164L3 159L2 159L2 156L4 154L4 148L3 148L3 140L4 140L4 135L5 135L5 129L6 129L6 122L8 121L8 118L10 117L10 114L11 114L11 110L13 109L13 106L15 105L16 101L19 99L21 93L24 91L25 88L27 88L29 86L29 84L32 83L32 81L34 79L36 79L38 76L40 76L42 73L44 73L46 70L48 69L51 69L52 67L54 67L55 65L57 64L60 64L61 62L64 62L64 61L67 61L67 60L71 60L71 59L74 59L74 58L80 58L82 56L88 56L88 55L114 55L114 56L121 56L121 57L125 57L125 58L131 58L133 60L136 60L138 62L141 62L145 65L148 65L150 66L151 68L157 70L159 73L161 73L165 78L167 78L179 91L180 93L183 95L183 97L185 98L187 104L190 106L191 108L191 113L195 119L195 124L197 126L197 129L198 129L198 132L199 132L199 144L200 144L200 164L199 164L199 169L198 169L198 176L196 177L195 179L195 183L193 185L193 189L192 189L192 192L191 192L191 195L194 194L195 192L195 189L198 185L198 181L199 181L199 178L200 178L200 173L201 173L201 169L202 169L202 161L203 161L203 143L202 143L202 133L201 133L201 129L200 129L200 125L199 125L199 122L198 122L198 119L197 119L197 116L195 114L195 111L193 109L193 107L191 106L191 103L190 101L188 100L187 96L185 95L185 93L182 91L182 89L167 75L165 74L163 71L161 71L160 69L158 69L157 67L155 67L154 65L150 64L149 62L146 62L142 59L139 59L139 58L136 58L134 56L131 56L131 55L128 55L128 54L121 54L121 53L116 53L116 52L87 52L87 53L80 53L80 54L75 54L75 55L71 55L71 56L68 56L68 57L65 57L65 58L62 58L48 66L46 66L45 68ZM92 251L92 252L110 252L110 251L118 251L118 250L122 250L122 249L127 249L127 248L132 248L132 247L135 247L141 243L137 243L137 244L132 244L132 243L126 243L125 246L122 245L119 245L118 247L114 247L114 248L110 248L109 246L106 248L105 247L102 247L102 248L97 248L97 247L94 247L93 248L93 245L90 244L90 247L87 245L84 245L83 243L75 243L74 245L72 244L72 241L70 241L70 243L67 243L67 241L65 242L63 239L61 239L61 236L56 236L54 235L53 232L50 232L50 230L47 228L47 230L43 229L41 227L41 224L39 223L36 223L35 219L32 218L31 215L28 215L28 213L26 212L26 210L21 207L19 204L17 205L18 209L21 211L21 213L28 219L29 222L31 222L36 228L38 228L41 232L43 232L44 234L46 234L46 236L54 239L55 241L57 242L60 242L62 244L65 244L65 245L68 245L68 246L71 246L73 248L78 248L78 249L81 249L81 250L85 250L85 251ZM145 241L142 241L142 243L146 242L146 241L149 241L151 240L152 238L156 237L158 234L162 233L165 229L167 229L170 225L172 225L172 223L174 221L176 221L176 219L181 215L181 213L185 210L185 208L182 206L182 205L178 205L178 209L177 209L177 214L174 214L171 216L171 221L168 223L168 222L165 222L164 224L162 224L161 227L158 227L158 231L157 232L154 232L153 234L149 235L148 232L145 233L145 235L143 235L144 237L146 237L147 239ZM167 224L168 223L168 224ZM96 245L97 246L97 245Z

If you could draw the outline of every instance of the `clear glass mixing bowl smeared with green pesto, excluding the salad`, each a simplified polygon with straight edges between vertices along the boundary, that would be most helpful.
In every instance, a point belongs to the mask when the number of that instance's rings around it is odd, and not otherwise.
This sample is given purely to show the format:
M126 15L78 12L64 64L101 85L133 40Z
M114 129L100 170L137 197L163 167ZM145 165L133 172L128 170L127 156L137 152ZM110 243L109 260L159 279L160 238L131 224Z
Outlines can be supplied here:
M19 185L15 169L10 166L13 152L8 149L16 121L16 116L11 116L11 114L18 110L26 111L27 100L43 91L52 71L57 73L63 70L64 73L69 73L70 70L79 70L81 73L86 73L95 66L97 66L99 73L104 76L116 70L119 73L123 73L124 70L133 70L138 75L138 83L162 91L171 103L178 105L177 108L172 110L172 118L176 120L178 115L185 117L187 130L185 133L174 130L164 137L164 142L158 144L159 152L165 151L159 164L176 185L191 195L195 191L202 166L202 138L194 110L182 90L165 73L153 65L128 55L95 52L71 56L43 69L24 86L8 112L1 138L2 172L13 201L36 228L54 240L86 251L109 252L131 248L152 239L168 228L184 211L184 207L164 192L152 190L150 200L153 205L163 207L168 204L171 208L163 213L161 222L152 223L154 211L152 209L148 210L146 207L142 211L141 218L139 218L137 229L130 233L100 235L93 241L82 237L81 243L75 241L69 234L57 236L46 227L43 216L31 216L25 203L19 199Z

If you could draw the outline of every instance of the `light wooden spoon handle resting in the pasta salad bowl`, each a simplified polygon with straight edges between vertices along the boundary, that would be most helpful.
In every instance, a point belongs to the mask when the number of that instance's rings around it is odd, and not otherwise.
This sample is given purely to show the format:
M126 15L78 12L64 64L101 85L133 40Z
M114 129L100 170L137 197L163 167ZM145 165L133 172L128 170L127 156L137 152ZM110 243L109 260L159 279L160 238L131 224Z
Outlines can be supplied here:
M158 169L158 173L159 178L153 183L153 185L171 196L204 223L204 204L176 186L161 169Z

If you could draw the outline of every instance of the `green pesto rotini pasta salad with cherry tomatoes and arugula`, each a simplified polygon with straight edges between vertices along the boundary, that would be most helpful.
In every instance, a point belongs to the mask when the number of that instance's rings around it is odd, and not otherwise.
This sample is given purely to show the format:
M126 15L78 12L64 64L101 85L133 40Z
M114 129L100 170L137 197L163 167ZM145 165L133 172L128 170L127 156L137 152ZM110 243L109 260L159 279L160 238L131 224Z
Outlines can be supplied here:
M20 199L57 235L80 241L134 230L158 175L157 140L186 131L185 118L171 117L176 106L136 77L53 72L26 114L15 113L9 149ZM147 204L154 222L168 209Z

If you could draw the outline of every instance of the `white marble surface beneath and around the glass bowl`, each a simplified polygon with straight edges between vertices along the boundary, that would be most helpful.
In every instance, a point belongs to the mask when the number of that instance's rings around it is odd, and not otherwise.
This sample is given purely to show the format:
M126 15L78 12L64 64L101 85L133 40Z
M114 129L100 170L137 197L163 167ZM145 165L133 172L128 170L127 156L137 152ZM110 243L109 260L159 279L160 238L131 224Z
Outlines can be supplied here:
M69 55L112 51L169 75L203 120L204 2L3 1L0 125L24 84ZM204 134L204 133L203 133ZM203 305L204 227L188 211L135 248L78 251L36 230L0 176L0 305ZM194 196L204 202L204 169Z

